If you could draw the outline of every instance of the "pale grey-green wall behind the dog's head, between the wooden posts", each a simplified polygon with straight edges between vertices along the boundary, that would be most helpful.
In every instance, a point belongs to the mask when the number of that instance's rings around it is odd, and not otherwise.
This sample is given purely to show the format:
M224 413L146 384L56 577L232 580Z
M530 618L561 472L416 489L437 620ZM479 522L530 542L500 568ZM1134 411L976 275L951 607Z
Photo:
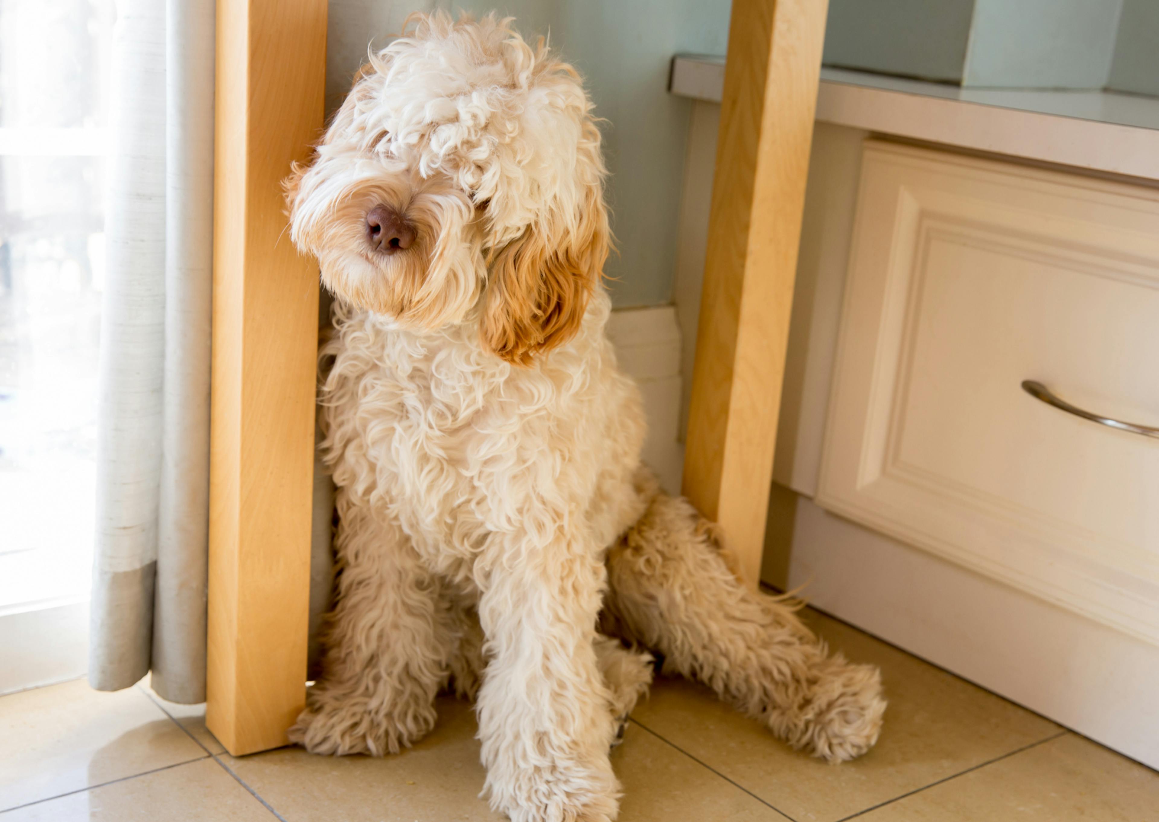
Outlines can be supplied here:
M586 78L605 117L612 173L607 197L619 255L607 272L617 306L658 305L672 297L676 228L691 102L668 94L672 54L723 54L730 0L330 0L327 103L341 101L371 37L385 44L415 8L497 9L552 45Z

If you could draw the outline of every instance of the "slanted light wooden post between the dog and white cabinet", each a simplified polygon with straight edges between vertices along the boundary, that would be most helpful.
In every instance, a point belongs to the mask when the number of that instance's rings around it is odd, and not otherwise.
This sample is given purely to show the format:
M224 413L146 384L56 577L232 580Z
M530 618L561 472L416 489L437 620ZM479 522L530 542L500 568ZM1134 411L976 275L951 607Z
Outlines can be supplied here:
M684 494L757 585L826 0L734 0Z

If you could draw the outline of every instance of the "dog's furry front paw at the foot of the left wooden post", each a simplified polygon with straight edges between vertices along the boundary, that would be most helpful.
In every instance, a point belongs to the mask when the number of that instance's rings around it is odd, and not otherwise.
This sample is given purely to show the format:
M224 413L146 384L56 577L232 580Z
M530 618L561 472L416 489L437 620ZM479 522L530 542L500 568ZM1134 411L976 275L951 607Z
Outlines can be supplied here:
M435 706L429 700L398 700L388 708L382 701L312 692L290 728L290 741L311 754L384 756L409 748L435 727Z

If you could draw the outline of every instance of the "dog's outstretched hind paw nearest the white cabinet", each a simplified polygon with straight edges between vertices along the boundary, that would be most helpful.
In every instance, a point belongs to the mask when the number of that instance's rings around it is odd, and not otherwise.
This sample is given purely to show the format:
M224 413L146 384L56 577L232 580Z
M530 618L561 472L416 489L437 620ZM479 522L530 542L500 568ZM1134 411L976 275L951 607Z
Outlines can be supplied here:
M851 664L839 654L818 671L803 722L793 734L795 748L829 762L854 759L877 742L885 699L874 665Z

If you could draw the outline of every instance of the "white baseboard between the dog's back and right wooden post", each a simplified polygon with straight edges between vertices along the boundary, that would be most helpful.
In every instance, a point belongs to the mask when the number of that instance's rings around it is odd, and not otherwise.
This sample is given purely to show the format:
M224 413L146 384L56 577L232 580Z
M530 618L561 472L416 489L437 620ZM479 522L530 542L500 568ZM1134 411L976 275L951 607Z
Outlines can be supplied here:
M620 368L636 380L648 415L643 460L670 494L680 493L684 445L680 428L680 328L676 307L613 311L607 336Z

